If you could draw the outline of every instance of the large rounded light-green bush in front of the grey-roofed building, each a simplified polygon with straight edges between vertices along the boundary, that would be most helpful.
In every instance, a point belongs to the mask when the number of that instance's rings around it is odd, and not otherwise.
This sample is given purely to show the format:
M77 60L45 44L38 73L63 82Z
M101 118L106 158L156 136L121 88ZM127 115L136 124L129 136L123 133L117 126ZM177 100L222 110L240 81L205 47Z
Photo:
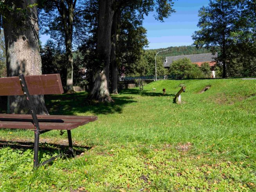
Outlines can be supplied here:
M192 63L191 60L188 58L173 61L169 68L169 74L175 75L177 79L197 79L205 77L199 66Z

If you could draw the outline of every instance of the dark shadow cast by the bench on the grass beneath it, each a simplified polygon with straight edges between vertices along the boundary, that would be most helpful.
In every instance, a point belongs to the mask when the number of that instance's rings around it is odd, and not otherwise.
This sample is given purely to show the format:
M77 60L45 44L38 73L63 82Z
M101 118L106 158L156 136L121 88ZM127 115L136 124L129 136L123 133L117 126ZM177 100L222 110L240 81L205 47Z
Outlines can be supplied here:
M33 142L22 142L22 141L7 141L7 140L0 140L0 149L4 147L9 147L11 149L19 149L23 153L28 149L32 149L34 151L34 143ZM76 156L84 153L85 151L91 149L91 147L84 147L84 146L74 146L74 154ZM69 145L62 145L62 144L52 144L52 143L40 143L39 144L39 157L38 161L40 162L43 160L43 154L48 154L52 156L54 154L65 154L69 150ZM72 158L71 155L65 154L62 158ZM31 159L32 161L32 159ZM52 164L51 161L49 164Z

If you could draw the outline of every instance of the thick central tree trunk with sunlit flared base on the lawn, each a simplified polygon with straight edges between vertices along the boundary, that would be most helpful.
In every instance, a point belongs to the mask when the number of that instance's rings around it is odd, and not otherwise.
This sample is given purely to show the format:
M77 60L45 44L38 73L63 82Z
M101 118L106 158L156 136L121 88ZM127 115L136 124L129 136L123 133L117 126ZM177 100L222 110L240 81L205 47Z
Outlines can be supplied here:
M112 4L114 0L99 1L99 18L97 29L97 61L94 63L94 74L92 78L92 91L89 99L100 102L112 102L110 97L109 65L111 52L111 27L114 11Z

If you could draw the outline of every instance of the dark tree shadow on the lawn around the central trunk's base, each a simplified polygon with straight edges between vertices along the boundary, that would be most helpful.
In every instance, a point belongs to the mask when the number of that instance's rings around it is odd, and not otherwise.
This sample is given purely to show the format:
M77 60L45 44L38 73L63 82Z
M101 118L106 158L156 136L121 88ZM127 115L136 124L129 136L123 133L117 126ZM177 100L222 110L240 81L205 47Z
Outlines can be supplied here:
M113 103L88 103L87 93L74 93L62 95L45 95L45 104L50 115L75 115L90 111L94 114L122 113L123 106L132 102L133 97L120 97L112 95Z

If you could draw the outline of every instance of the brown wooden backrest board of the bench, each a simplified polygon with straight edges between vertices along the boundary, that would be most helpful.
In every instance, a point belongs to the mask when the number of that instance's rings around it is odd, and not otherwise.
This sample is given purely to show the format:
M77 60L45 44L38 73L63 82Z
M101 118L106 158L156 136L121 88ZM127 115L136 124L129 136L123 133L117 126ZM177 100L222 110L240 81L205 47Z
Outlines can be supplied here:
M29 75L25 81L30 95L62 94L59 74ZM19 77L0 78L0 95L24 95Z

